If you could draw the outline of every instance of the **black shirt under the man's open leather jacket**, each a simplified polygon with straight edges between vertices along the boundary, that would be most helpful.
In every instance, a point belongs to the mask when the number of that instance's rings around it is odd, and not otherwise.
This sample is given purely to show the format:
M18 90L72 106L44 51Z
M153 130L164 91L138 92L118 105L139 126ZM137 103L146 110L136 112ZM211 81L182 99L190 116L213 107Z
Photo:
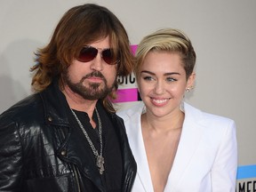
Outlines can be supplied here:
M107 191L121 191L122 188L122 176L123 176L123 166L122 166L122 156L120 143L116 136L115 128L111 123L108 114L104 110L104 108L97 103L97 109L100 114L100 120L102 124L102 144L103 144L103 157L104 157L104 173L101 175L101 180L103 185L107 188ZM76 116L83 124L85 131L89 135L90 139L94 147L98 150L100 155L100 138L99 138L99 127L98 127L98 118L96 112L93 112L93 121L97 124L96 128L93 129L90 124L89 116L82 111L73 110L76 113ZM71 113L68 113L68 118L75 119ZM74 121L73 121L74 122ZM81 129L78 124L76 124L78 129ZM83 133L84 134L84 133ZM84 136L84 140L86 140ZM96 157L91 153L93 159L95 159L96 165Z

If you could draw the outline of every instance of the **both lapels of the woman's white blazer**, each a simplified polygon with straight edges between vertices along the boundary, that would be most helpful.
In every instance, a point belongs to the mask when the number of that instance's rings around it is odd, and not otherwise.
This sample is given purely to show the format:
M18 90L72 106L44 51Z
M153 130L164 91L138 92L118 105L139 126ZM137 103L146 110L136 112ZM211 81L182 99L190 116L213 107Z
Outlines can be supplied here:
M143 111L144 104L140 103L136 107L127 111L127 116L124 117L125 124L128 125L127 134L132 153L138 165L137 177L145 191L154 191L151 182L148 159L146 155L146 149L144 146L140 116ZM200 110L193 108L192 106L184 103L185 120L183 123L182 133L180 137L180 143L177 150L177 154L172 165L172 171L169 174L167 184L164 191L175 191L175 186L179 183L188 168L190 159L198 147L199 140L202 137L202 129L204 127L202 123L203 114Z

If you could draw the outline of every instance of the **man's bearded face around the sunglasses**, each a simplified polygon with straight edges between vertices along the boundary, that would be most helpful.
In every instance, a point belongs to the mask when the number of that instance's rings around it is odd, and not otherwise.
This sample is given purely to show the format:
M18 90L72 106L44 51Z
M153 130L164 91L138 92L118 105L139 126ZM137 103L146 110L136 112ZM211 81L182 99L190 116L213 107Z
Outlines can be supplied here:
M64 84L72 92L77 93L84 100L99 100L112 92L116 83L116 65L109 65L101 57L100 50L110 48L109 37L100 39L90 45L99 49L96 57L88 62L73 60L66 73L63 74Z

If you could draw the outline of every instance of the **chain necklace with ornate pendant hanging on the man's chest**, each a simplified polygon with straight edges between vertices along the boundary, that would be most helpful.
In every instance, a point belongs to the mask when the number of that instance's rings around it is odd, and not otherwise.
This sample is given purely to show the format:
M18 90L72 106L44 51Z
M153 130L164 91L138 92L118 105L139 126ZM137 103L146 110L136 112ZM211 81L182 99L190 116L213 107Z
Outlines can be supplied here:
M88 141L90 147L92 148L92 152L93 152L94 156L96 157L96 165L99 168L100 174L103 174L105 169L104 169L104 157L102 156L102 125L101 125L100 115L98 113L97 108L95 108L95 111L96 111L97 119L98 119L98 122L99 122L100 155L99 155L98 150L94 147L94 145L92 143L92 140L90 139L88 133L85 131L83 124L81 123L81 121L76 116L76 113L72 110L72 108L70 108L70 109L71 109L71 112L73 113L73 115L76 118L77 124L80 126L82 132L84 133L84 136L85 136L86 140Z

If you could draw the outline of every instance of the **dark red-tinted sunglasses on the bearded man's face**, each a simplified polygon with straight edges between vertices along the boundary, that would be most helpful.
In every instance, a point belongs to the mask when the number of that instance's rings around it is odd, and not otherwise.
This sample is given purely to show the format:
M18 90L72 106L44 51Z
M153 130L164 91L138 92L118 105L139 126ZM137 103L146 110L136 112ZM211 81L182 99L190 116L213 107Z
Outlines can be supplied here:
M76 60L79 60L81 62L89 62L91 60L94 60L95 57L97 56L98 52L100 52L101 58L108 63L108 65L115 65L116 60L114 57L114 54L112 52L112 49L100 49L100 48L95 48L92 46L84 46L79 53L78 57Z

